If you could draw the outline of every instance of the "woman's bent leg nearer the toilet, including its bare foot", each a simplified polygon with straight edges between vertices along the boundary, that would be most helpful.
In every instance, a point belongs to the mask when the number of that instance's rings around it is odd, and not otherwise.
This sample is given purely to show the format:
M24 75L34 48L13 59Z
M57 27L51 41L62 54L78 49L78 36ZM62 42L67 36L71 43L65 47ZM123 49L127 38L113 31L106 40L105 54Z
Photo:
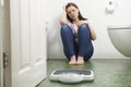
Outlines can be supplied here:
M88 60L93 54L93 44L91 39L90 28L87 24L79 27L79 57L78 63L83 64L84 60Z

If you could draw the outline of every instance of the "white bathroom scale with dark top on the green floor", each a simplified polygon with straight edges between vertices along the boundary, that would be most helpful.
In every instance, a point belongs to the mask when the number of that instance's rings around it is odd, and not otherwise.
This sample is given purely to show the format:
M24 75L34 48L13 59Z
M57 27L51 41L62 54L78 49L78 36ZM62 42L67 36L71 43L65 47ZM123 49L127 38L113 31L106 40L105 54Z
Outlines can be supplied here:
M50 74L50 80L61 83L80 83L94 80L92 70L56 70Z

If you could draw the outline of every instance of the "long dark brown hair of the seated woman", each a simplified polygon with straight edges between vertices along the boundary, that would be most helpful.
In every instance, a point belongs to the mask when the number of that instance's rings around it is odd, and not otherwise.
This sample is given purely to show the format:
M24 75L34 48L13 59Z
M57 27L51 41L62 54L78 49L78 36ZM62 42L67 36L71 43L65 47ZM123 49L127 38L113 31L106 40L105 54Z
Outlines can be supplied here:
M73 2L69 2L67 5L66 5L66 12L67 12L67 9L69 8L69 7L74 7L74 8L76 8L78 10L79 10L79 7L75 4L75 3L73 3ZM72 23L73 22L73 20L68 15L68 13L67 13L67 18ZM87 18L85 18L85 17L83 17L82 16L82 14L81 14L81 12L79 11L79 20L87 20Z

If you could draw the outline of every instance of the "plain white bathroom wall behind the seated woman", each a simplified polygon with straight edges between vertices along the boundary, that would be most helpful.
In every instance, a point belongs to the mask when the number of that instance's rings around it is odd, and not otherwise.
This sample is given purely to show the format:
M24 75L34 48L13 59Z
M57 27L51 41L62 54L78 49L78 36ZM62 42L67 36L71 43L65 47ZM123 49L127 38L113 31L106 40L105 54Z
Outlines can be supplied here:
M110 0L47 0L46 23L48 58L64 58L60 38L59 16L62 12L62 7L71 1L79 5L83 16L91 20L97 34L97 39L93 41L95 48L93 59L126 58L112 46L108 37L107 27L131 25L131 0L112 0L117 2L112 13L106 11L106 7Z

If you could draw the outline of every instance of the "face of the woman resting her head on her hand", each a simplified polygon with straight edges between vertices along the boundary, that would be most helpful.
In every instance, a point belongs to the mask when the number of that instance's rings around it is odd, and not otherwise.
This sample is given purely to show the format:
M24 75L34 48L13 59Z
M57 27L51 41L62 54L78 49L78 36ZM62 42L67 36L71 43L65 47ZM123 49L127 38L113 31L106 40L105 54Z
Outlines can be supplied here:
M79 10L73 5L67 9L67 13L73 21L76 20L79 16Z

